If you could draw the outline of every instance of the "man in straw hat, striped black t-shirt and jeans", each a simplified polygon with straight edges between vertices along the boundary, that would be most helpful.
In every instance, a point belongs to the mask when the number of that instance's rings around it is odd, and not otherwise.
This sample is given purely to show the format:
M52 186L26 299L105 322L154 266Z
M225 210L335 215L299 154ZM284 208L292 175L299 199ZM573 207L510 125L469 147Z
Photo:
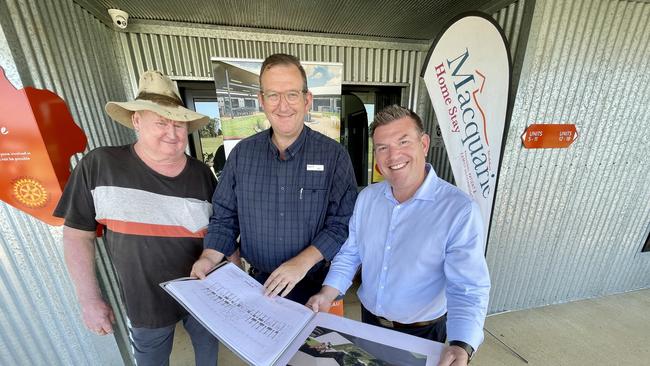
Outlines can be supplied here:
M109 102L106 112L134 129L137 141L89 152L54 213L65 218L65 261L84 324L105 335L115 321L94 268L95 233L102 225L138 365L169 363L179 320L192 339L196 364L215 365L217 340L158 286L187 276L203 249L216 180L185 149L188 134L208 117L183 107L176 85L158 71L142 74L134 101Z

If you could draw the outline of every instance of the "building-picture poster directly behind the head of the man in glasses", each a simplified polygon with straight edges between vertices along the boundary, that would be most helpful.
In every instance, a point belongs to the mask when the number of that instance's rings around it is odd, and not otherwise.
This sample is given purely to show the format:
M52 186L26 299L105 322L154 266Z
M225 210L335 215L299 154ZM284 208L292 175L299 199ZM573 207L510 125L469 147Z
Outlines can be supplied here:
M257 98L264 60L212 58L219 120L225 154L242 139L270 128ZM314 96L305 125L339 141L341 134L341 80L343 64L302 62Z

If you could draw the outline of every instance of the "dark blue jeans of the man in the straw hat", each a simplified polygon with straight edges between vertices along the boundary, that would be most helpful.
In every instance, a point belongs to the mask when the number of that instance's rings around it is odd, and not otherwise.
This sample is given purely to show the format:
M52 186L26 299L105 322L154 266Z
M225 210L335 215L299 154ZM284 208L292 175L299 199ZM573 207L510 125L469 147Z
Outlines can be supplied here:
M219 341L191 315L183 326L192 340L196 366L216 366ZM131 328L131 344L138 366L168 366L174 343L176 324L162 328Z

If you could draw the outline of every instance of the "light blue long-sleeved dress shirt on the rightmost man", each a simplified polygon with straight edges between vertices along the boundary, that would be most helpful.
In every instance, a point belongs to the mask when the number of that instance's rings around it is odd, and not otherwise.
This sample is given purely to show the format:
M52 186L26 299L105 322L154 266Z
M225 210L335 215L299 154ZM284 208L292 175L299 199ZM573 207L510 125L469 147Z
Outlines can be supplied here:
M422 186L403 203L387 182L359 194L349 237L324 284L345 293L363 264L358 295L366 309L400 323L447 312L447 339L476 350L490 293L483 221L468 195L426 169Z

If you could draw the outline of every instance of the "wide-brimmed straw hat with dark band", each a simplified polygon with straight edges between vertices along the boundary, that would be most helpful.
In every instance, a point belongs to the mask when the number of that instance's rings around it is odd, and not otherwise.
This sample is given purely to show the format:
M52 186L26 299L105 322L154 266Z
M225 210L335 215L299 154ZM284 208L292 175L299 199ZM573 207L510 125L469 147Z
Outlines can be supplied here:
M146 71L140 76L138 96L134 101L108 102L105 109L112 119L128 128L133 128L131 116L136 111L151 111L167 119L187 122L189 133L210 121L208 116L185 108L174 82L160 71Z

